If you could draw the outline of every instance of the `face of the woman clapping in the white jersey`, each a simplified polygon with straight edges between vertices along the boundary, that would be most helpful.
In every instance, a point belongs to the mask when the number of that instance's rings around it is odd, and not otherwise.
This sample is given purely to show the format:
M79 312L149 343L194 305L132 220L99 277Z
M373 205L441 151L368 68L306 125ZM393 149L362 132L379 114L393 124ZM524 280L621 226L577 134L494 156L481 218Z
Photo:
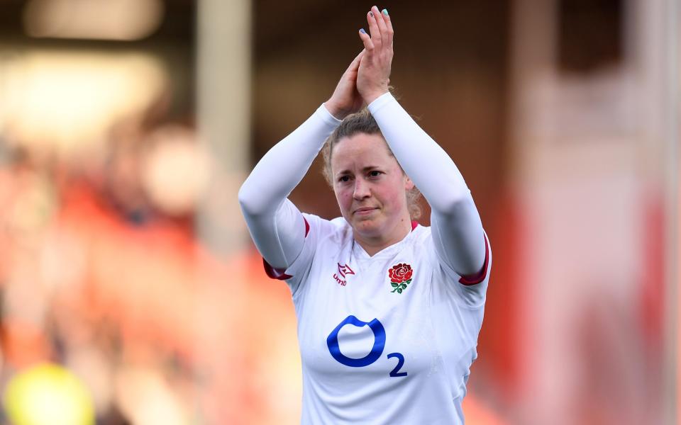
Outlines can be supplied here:
M381 135L344 137L331 154L333 191L345 220L362 237L393 239L409 222L406 191L414 187ZM402 223L403 224L403 223Z

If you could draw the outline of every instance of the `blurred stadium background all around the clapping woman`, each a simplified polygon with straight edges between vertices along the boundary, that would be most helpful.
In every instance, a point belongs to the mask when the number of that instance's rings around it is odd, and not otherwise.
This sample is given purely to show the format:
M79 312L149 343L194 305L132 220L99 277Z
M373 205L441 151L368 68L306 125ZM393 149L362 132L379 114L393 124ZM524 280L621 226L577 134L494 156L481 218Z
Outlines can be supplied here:
M289 290L236 193L370 6L0 0L0 424L299 422ZM680 5L377 6L494 249L467 422L681 423ZM336 217L319 170L291 198Z

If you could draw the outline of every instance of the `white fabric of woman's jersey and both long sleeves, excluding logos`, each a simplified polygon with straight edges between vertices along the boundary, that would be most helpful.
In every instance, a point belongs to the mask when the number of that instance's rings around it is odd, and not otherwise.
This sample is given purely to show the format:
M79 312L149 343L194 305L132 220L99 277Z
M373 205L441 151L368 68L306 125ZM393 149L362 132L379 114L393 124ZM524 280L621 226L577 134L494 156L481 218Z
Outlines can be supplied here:
M458 280L480 271L485 261L480 216L455 164L391 95L377 98L369 109L402 169L431 205L432 227L416 227L370 257L353 242L342 217L329 222L302 215L287 199L340 123L323 105L262 157L239 191L260 254L279 274L292 276L287 283L299 321L302 421L462 423L461 401L476 356L489 273L477 285ZM303 217L310 225L307 237ZM403 293L392 293L387 273L398 263L408 263L414 278ZM342 276L345 265L354 273ZM384 351L369 365L339 363L328 348L329 334L350 315L362 322L377 319L384 327ZM362 358L372 338L368 327L346 324L338 343L343 355ZM391 353L404 356L406 377L389 376L399 360L387 358Z

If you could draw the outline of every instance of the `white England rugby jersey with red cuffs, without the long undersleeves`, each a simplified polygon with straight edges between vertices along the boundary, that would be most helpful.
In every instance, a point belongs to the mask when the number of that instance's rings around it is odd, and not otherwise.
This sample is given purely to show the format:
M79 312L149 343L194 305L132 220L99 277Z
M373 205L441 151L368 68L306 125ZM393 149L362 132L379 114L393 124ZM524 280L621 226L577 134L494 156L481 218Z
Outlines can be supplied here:
M304 214L285 271L298 318L302 424L463 424L492 254L466 280L438 261L431 228L369 256L343 217Z

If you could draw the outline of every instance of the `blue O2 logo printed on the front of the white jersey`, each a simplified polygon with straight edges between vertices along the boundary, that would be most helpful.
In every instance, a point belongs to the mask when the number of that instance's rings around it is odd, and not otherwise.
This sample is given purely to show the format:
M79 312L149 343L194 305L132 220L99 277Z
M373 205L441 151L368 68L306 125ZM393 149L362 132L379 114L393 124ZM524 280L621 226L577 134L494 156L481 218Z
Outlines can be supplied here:
M341 353L341 347L338 345L338 332L341 331L341 328L346 324L351 324L356 327L368 326L369 329L373 331L374 345L366 356L362 358L351 358ZM328 346L328 351L331 353L331 356L335 358L338 363L350 366L351 368L362 368L374 363L381 357L383 348L385 348L385 328L378 319L373 319L371 322L362 322L357 317L350 315L345 317L343 322L339 323L336 329L331 331L331 334L328 334L326 346ZM406 376L406 372L399 371L402 368L402 365L404 365L404 356L402 356L402 353L390 353L387 356L387 358L393 357L397 358L397 366L390 372L390 376L393 378Z

